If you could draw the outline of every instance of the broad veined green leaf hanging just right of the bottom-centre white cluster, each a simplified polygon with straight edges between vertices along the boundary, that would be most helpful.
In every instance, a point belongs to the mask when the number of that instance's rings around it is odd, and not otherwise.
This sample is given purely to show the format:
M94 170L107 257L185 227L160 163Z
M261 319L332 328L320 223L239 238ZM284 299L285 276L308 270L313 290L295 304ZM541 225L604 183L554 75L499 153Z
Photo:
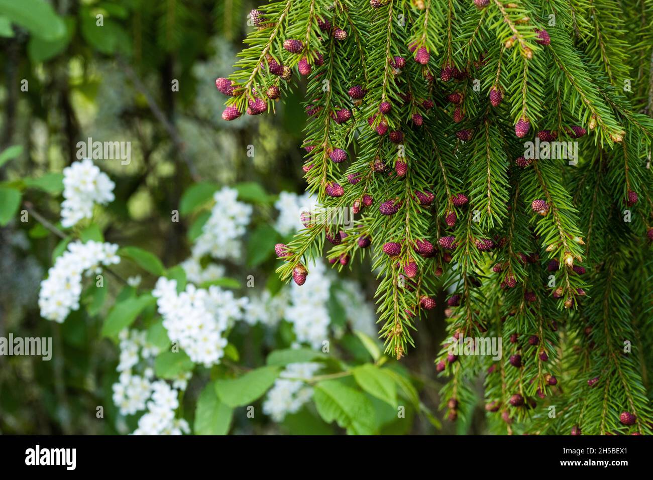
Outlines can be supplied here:
M350 434L372 435L376 428L374 407L361 392L338 380L325 380L315 385L315 407L327 422L336 421Z

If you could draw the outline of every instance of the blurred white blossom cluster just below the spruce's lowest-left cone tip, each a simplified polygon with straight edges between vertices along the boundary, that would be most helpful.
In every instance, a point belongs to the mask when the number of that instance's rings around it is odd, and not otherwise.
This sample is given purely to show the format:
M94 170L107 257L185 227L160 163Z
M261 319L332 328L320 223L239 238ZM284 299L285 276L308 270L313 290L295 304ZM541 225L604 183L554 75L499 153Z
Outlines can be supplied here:
M328 340L330 317L327 302L331 279L322 262L309 266L309 270L304 285L291 285L291 303L285 310L284 318L293 324L297 342L319 349L322 342Z

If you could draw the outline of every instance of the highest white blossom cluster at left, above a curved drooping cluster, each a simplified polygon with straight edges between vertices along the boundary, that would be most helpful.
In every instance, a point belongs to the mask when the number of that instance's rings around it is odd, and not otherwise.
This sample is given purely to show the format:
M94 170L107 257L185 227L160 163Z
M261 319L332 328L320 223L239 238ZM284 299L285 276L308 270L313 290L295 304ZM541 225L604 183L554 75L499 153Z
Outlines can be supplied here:
M95 204L106 205L114 199L116 184L88 158L63 169L61 225L72 227L93 216Z

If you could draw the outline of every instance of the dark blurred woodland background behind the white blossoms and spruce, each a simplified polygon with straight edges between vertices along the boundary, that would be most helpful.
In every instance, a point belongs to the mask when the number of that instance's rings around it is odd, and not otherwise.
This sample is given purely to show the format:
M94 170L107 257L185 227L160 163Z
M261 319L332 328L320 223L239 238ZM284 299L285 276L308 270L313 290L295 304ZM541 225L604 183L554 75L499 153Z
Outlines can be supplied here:
M239 185L261 200L262 208L245 238L246 266L229 266L229 274L253 274L271 291L278 289L270 242L283 239L274 230L269 234L270 207L280 191L304 191L304 86L278 103L274 116L228 123L220 118L224 98L214 83L231 73L249 28L247 13L255 6L245 0L0 0L0 152L12 148L8 152L15 157L0 161L0 182L21 184L23 205L56 223L57 185L61 170L78 159L77 142L88 137L129 141L129 165L97 162L116 182L116 200L98 219L107 242L140 246L157 253L166 266L178 264L189 256L192 219L172 223L170 215L185 189L196 182ZM102 29L95 27L99 18ZM176 82L178 91L172 88ZM253 157L246 154L249 145L255 148ZM131 431L134 425L121 424L125 420L111 401L118 353L114 344L101 340L101 323L83 310L63 325L40 318L39 282L52 265L58 241L35 221L15 219L0 229L0 336L52 336L54 350L64 353L50 362L0 356L0 432ZM138 273L127 262L116 270L124 278ZM369 266L359 265L340 275L357 280L371 299L375 285L366 271ZM332 323L342 320L342 311L333 300ZM397 367L411 371L422 402L433 411L440 386L433 359L444 336L438 311L422 322L417 348ZM236 332L243 364L260 363L266 353L259 327ZM283 328L276 334L283 337ZM349 336L338 349L355 358L360 347ZM192 405L202 386L191 382L185 402ZM97 406L104 407L104 419L97 419ZM449 423L436 430L438 421L421 415L388 431L481 433L481 409L456 427ZM255 422L236 417L232 429L248 434L338 431L305 410L281 425L263 416Z

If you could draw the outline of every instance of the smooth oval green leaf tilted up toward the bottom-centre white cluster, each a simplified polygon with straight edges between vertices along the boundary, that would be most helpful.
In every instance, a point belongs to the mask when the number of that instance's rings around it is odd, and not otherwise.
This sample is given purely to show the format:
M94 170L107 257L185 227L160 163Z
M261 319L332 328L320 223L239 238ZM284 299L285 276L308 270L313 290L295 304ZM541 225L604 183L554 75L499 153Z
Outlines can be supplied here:
M231 407L249 405L272 387L279 371L277 366L264 366L238 378L216 380L215 391Z

